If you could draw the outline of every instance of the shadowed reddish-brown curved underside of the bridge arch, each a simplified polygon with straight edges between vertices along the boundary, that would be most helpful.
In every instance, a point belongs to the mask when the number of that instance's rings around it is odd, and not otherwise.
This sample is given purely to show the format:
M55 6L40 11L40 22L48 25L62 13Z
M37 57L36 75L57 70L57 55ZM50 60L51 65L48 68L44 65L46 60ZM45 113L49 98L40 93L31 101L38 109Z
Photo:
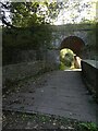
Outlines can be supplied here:
M82 48L85 46L85 43L82 38L77 36L69 36L64 38L61 43L60 50L63 48L69 48L73 50L77 56L82 56Z

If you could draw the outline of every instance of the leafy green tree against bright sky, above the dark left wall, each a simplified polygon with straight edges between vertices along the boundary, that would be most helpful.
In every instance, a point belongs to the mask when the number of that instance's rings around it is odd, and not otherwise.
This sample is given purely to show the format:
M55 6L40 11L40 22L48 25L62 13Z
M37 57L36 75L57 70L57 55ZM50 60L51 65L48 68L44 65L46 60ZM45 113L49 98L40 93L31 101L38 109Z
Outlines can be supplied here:
M2 23L11 27L28 27L35 24L51 24L58 16L62 2L5 2L1 3ZM5 10L11 22L7 22Z

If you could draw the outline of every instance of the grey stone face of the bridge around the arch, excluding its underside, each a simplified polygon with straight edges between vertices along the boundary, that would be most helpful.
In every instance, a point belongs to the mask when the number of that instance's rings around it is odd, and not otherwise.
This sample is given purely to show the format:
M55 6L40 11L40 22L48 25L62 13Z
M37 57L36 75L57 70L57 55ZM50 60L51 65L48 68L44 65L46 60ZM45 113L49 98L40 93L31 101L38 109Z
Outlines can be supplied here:
M85 47L82 51L83 59L97 59L98 51L96 48L96 29L90 25L61 25L56 29L52 29L52 39L51 43L53 48L59 48L63 39L69 36L77 36L85 43Z

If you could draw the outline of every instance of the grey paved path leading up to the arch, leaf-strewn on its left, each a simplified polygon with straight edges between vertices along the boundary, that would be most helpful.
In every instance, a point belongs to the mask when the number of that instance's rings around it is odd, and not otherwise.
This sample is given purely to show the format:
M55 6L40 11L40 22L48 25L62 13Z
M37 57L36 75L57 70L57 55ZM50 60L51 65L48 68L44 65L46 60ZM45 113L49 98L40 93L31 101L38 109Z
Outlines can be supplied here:
M16 93L3 98L3 109L42 112L96 122L98 106L88 95L82 82L81 71L54 71L46 74L42 82L25 83Z

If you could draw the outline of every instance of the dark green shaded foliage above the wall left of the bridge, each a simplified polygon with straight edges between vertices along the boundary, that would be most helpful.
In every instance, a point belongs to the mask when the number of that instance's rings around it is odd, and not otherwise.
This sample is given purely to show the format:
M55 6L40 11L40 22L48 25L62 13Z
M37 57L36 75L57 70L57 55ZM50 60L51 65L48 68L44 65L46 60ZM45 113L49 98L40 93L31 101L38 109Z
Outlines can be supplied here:
M51 32L46 25L37 25L30 28L3 28L3 48L40 49L51 47Z

